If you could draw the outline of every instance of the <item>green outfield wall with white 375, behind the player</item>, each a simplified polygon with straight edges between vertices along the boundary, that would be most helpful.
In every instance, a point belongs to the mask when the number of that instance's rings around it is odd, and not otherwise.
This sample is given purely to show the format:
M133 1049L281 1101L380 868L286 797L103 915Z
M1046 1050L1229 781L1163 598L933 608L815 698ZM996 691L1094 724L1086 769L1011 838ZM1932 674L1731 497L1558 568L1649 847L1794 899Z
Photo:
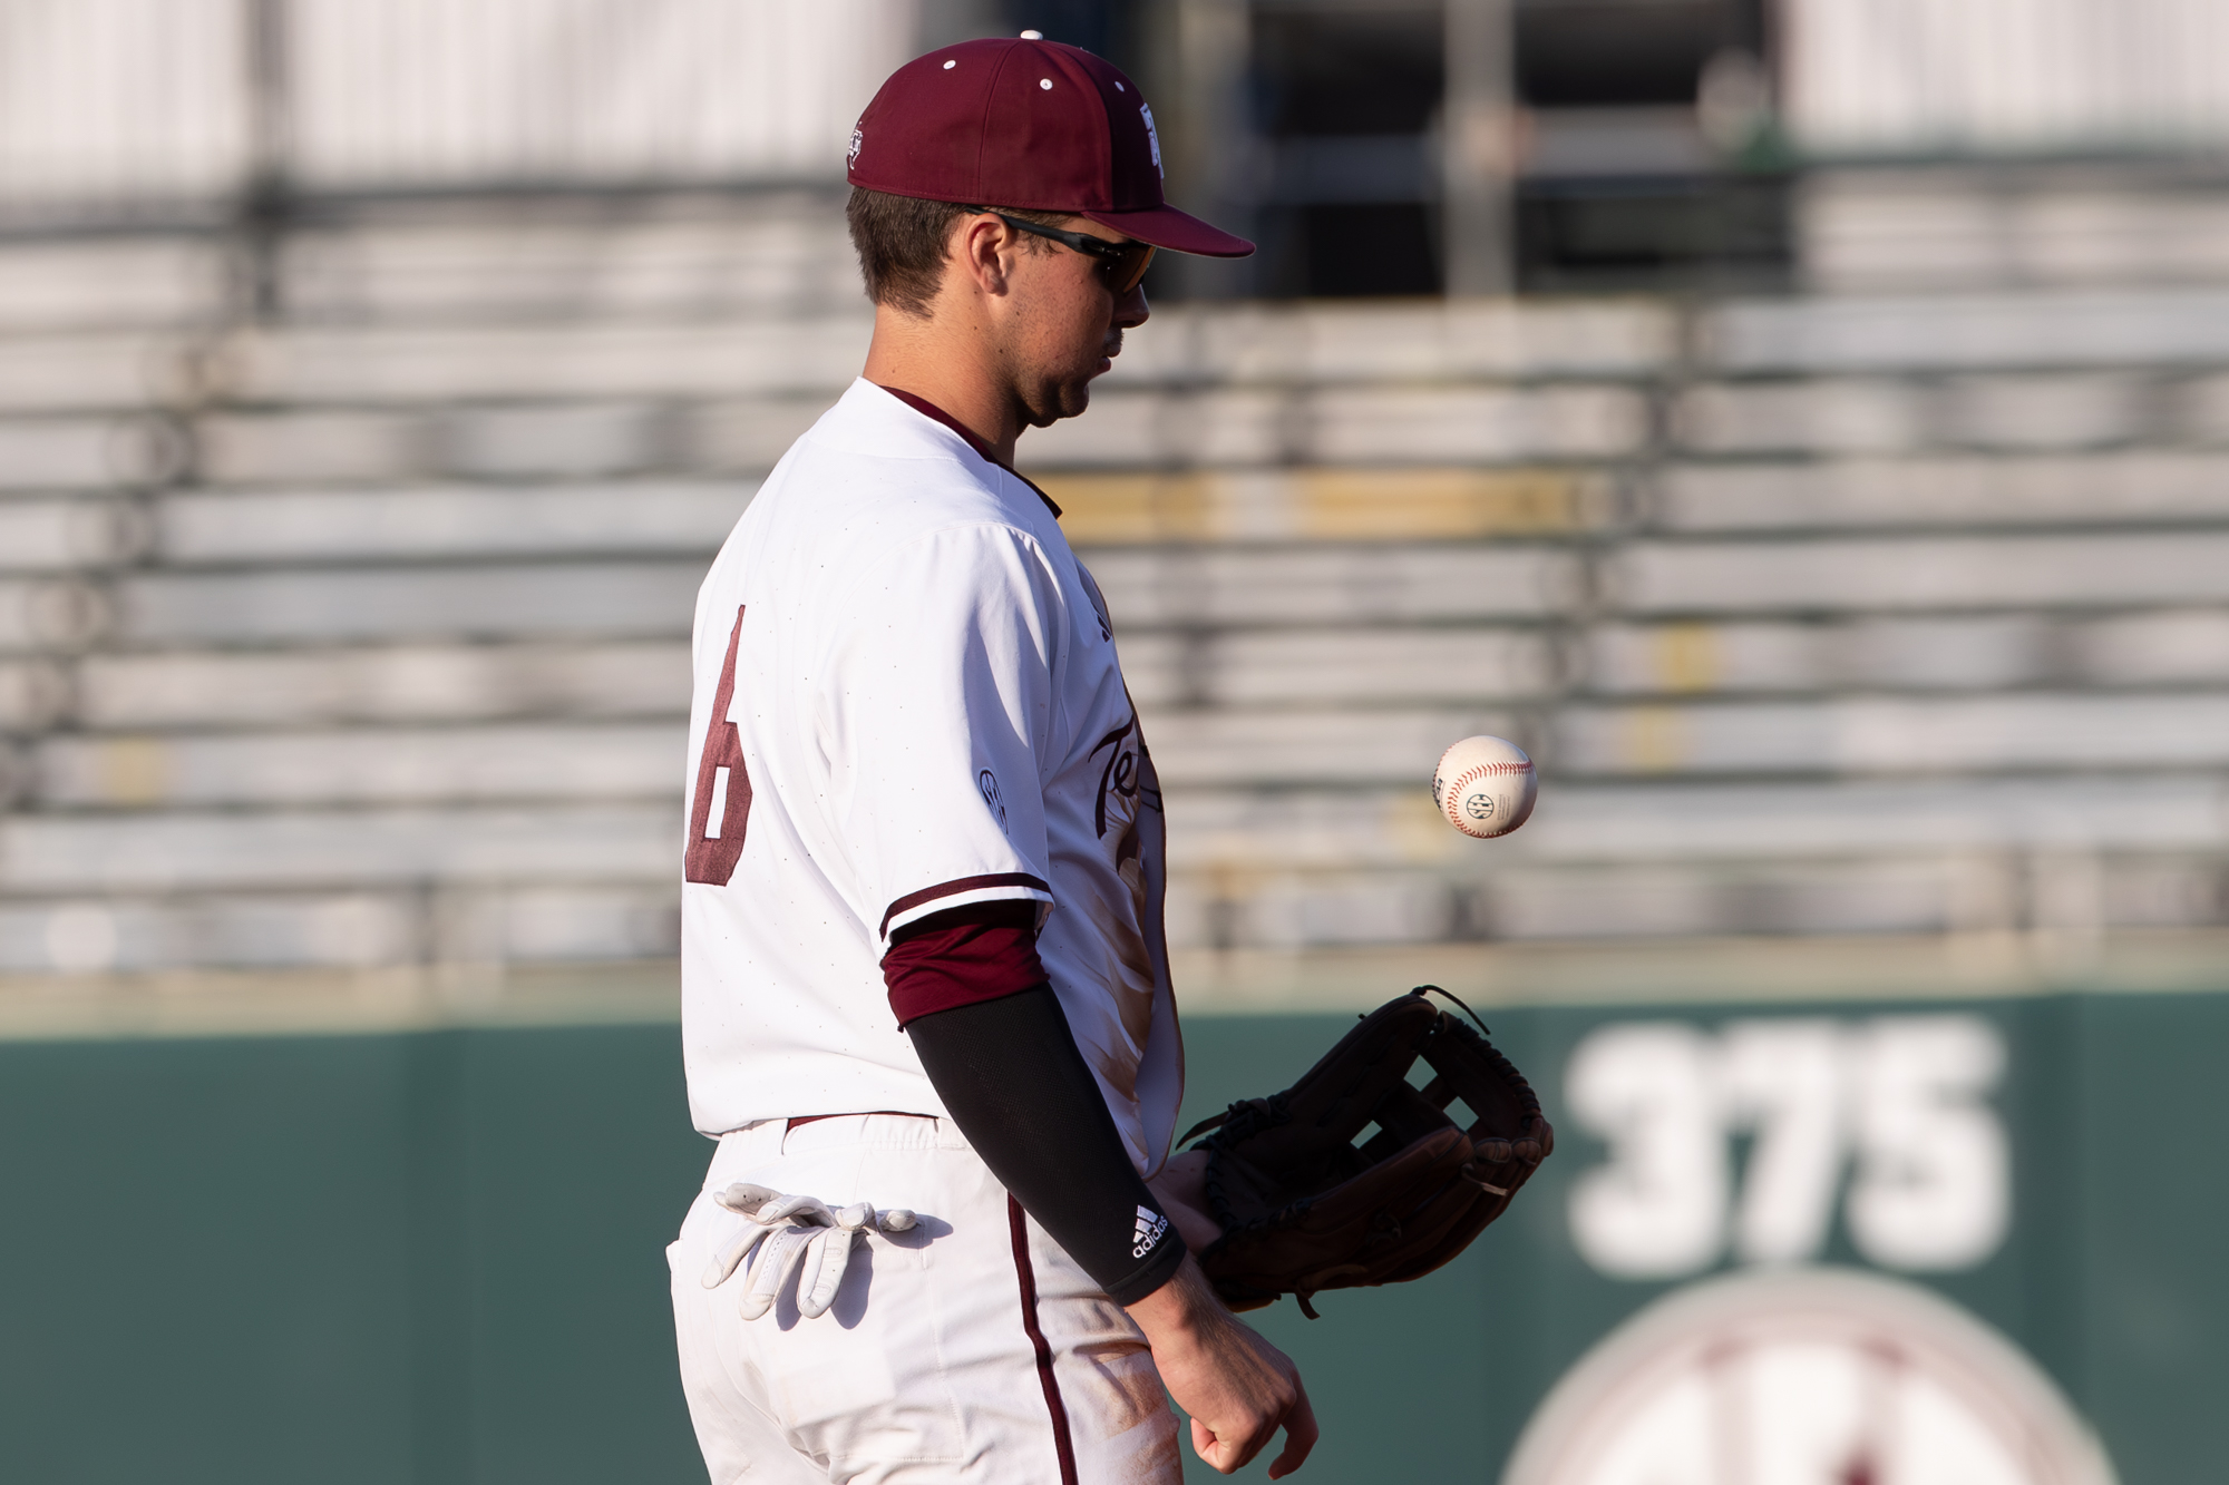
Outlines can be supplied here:
M2229 994L1489 1021L1556 1157L1447 1271L1259 1316L1302 1478L1498 1481L1620 1320L1761 1262L1953 1300L2124 1485L2222 1476ZM1186 1117L1344 1023L1195 1019ZM0 1476L702 1481L662 1246L709 1148L671 1026L0 1044Z

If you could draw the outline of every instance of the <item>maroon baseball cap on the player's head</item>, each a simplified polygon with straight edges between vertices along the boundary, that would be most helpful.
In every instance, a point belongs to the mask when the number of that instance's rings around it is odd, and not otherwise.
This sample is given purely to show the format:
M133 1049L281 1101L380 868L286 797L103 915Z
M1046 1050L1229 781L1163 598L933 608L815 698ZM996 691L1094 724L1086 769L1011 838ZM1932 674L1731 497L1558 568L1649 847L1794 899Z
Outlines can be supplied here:
M858 116L849 178L889 196L1088 216L1170 252L1253 252L1161 201L1161 138L1137 82L1061 42L994 38L916 56Z

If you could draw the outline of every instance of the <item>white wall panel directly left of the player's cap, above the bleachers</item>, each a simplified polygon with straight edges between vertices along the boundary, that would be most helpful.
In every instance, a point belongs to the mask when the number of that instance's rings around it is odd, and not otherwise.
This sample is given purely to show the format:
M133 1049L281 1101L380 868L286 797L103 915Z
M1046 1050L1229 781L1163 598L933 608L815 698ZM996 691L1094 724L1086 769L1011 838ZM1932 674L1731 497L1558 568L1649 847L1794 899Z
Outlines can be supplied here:
M314 185L843 174L909 0L296 0Z

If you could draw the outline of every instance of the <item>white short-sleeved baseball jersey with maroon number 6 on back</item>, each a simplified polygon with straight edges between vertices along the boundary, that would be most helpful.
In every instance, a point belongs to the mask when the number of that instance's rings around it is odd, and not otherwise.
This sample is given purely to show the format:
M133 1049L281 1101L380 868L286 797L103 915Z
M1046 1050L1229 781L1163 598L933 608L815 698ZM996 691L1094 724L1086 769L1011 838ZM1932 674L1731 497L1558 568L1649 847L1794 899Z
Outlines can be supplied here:
M1161 796L1106 602L1054 511L869 381L800 437L695 609L682 1048L707 1135L945 1115L889 932L1039 908L1039 954L1139 1173L1184 1052Z

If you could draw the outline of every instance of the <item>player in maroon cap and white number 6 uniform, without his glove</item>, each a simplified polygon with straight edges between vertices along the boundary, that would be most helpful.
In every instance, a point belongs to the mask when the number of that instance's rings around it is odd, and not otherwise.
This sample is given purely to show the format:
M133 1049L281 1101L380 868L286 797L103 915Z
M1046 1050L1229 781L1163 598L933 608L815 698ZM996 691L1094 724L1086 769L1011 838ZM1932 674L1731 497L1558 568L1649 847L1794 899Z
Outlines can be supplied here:
M695 609L682 1039L718 1153L669 1249L716 1485L1181 1478L1282 1429L1217 1302L1164 823L1106 602L1014 441L1083 412L1157 248L1137 85L1034 38L901 67L851 134L865 375Z

